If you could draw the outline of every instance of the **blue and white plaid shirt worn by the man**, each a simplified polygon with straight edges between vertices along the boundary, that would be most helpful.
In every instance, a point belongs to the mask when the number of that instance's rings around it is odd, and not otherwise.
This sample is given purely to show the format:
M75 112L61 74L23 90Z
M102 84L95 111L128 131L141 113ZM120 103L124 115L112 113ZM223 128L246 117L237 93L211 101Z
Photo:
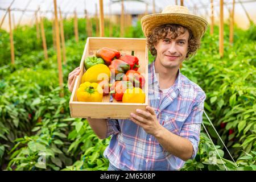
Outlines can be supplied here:
M205 93L179 71L174 85L163 94L154 62L148 65L148 98L163 127L191 141L192 159L200 139ZM112 135L104 156L122 170L177 170L184 161L170 154L142 127L130 119L108 119L106 137Z

